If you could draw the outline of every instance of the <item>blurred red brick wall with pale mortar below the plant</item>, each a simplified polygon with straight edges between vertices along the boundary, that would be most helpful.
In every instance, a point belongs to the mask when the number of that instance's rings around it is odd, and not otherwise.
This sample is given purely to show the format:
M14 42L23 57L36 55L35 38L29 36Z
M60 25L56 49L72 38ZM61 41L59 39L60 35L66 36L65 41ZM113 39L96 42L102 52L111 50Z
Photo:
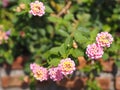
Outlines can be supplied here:
M83 57L79 57L79 69L86 65ZM120 68L116 67L114 60L102 61L103 71L96 75L95 79L101 90L120 90ZM76 71L76 77L63 79L61 82L49 81L45 86L42 83L36 85L36 90L86 90L88 77L83 72ZM14 64L10 67L0 65L0 90L30 90L29 76L23 71L23 66Z

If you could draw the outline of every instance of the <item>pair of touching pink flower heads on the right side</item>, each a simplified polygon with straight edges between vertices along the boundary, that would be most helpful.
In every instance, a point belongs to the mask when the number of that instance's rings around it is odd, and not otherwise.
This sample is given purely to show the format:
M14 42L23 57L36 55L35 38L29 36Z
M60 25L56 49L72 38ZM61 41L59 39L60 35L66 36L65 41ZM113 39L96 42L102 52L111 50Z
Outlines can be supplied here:
M110 47L113 42L113 37L108 32L97 34L96 43L87 46L86 54L91 59L99 59L104 54L104 48Z

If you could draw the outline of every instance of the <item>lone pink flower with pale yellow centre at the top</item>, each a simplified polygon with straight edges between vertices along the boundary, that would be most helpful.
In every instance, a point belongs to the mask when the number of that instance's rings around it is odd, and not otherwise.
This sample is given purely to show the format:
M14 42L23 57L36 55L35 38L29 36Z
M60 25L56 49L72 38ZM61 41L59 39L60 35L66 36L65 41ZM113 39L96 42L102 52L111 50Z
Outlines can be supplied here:
M34 16L43 16L45 14L45 6L42 2L35 1L30 3L30 14Z

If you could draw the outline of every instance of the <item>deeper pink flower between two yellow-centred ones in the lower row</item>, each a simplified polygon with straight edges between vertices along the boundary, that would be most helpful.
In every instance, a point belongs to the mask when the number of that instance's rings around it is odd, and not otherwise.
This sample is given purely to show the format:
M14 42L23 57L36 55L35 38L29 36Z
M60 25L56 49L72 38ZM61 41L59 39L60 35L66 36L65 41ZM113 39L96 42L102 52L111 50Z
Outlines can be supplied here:
M63 74L59 67L49 69L50 79L53 81L60 81L63 78Z

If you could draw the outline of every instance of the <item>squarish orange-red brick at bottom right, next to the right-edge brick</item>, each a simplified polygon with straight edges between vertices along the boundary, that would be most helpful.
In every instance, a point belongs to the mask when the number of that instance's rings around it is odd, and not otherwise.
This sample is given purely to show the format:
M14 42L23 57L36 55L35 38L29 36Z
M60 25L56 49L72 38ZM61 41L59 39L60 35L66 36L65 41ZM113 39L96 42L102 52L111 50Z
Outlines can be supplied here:
M110 90L111 79L106 77L97 77L98 86L101 90Z

